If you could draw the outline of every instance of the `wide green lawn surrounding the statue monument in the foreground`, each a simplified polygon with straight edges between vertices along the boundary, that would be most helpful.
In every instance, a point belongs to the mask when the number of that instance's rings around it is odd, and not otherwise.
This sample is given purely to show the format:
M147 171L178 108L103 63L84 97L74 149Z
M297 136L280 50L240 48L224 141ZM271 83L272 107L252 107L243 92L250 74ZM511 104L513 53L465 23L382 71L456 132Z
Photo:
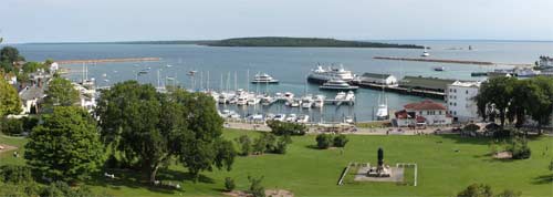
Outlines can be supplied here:
M225 137L236 138L253 132L226 131ZM553 196L552 173L547 165L553 159L553 138L541 137L530 142L532 157L525 160L497 160L488 153L488 139L442 136L361 136L349 135L349 143L340 149L314 149L313 135L293 137L285 155L267 154L237 158L231 172L205 172L198 183L180 180L182 189L146 187L133 182L136 173L119 173L118 180L96 177L94 190L114 196L219 196L225 177L232 177L238 189L247 189L248 175L264 176L263 186L288 189L296 196L455 196L470 184L484 183L495 191L513 189L523 196ZM0 137L0 143L21 146L24 139ZM343 185L336 183L349 162L376 163L376 151L384 148L386 163L417 163L418 186L395 184ZM547 151L546 151L547 148ZM455 152L458 149L459 152ZM21 152L21 151L20 151ZM0 165L23 164L11 153L0 155ZM186 169L173 165L160 174L161 180L187 178Z

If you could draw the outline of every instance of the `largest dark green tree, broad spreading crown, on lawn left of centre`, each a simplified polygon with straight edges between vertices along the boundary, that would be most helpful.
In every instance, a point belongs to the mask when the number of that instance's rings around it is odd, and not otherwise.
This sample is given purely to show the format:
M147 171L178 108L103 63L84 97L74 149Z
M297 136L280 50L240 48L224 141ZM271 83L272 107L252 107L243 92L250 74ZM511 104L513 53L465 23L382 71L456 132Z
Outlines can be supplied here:
M232 165L236 152L221 138L222 120L205 94L160 94L150 84L127 81L103 92L97 114L105 143L124 166L140 168L150 182L171 157L195 177Z

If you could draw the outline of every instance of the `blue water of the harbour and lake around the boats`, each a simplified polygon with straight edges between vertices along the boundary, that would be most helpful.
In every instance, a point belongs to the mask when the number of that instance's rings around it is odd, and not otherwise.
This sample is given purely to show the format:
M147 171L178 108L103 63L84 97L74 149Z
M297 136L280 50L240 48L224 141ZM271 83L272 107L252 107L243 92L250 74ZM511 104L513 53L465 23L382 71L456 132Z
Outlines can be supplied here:
M389 41L399 43L415 43L430 46L431 58L491 61L499 63L533 63L540 55L553 55L553 42L490 42L490 41ZM469 51L468 45L473 50ZM223 75L223 87L227 86L227 75L230 72L229 86L234 86L234 72L238 73L238 86L248 89L247 71L250 77L257 72L267 72L281 81L279 85L270 85L269 92L293 92L296 96L304 94L305 90L312 94L323 93L334 97L333 92L320 92L317 85L306 85L305 76L317 63L344 64L348 70L357 74L363 72L392 73L398 77L404 75L436 76L444 79L482 80L471 77L474 71L491 71L508 66L479 66L466 64L440 64L430 62L401 62L374 60L373 56L408 56L418 58L421 50L409 49L333 49L333 48L212 48L198 45L150 45L150 44L19 44L15 45L20 52L33 61L43 61L51 58L54 60L80 60L80 59L107 59L107 58L161 58L159 62L139 63L103 63L90 65L90 77L95 77L100 86L109 85L115 82L137 79L142 83L157 84L157 70L160 70L161 79L176 76L180 85L191 87L192 80L186 75L190 70L201 72L202 86L207 86L207 72L209 71L209 87L220 89L221 74ZM463 50L450 50L451 48L463 48ZM173 65L166 68L167 64ZM71 69L72 80L81 79L82 65L64 65ZM432 68L446 66L445 72L435 72ZM136 72L145 68L152 68L150 73L136 77ZM102 74L106 73L107 77ZM104 82L104 80L109 80ZM163 80L161 80L163 81ZM200 86L199 73L196 76L196 87ZM249 90L255 92L258 86L250 84ZM265 86L259 86L260 92ZM340 121L344 115L354 115L357 121L369 121L373 118L374 107L377 105L378 91L358 90L355 106L331 106L326 105L323 112L301 111L282 105L273 105L270 108L243 108L240 113L253 113L254 111L272 113L307 113L319 121ZM390 110L400 110L403 105L425 100L424 97L399 95L387 93ZM229 106L221 106L229 107ZM232 106L230 106L233 108ZM237 110L237 108L234 108ZM322 114L322 115L321 115Z

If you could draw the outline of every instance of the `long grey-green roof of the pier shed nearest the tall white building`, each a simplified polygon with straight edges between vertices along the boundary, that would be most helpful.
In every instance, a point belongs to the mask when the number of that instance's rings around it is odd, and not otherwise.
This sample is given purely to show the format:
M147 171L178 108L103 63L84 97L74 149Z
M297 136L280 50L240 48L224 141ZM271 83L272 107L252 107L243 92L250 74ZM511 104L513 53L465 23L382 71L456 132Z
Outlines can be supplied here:
M426 76L405 76L399 82L399 85L405 87L420 87L420 89L445 91L447 86L449 84L452 84L453 82L456 82L456 80L426 77Z

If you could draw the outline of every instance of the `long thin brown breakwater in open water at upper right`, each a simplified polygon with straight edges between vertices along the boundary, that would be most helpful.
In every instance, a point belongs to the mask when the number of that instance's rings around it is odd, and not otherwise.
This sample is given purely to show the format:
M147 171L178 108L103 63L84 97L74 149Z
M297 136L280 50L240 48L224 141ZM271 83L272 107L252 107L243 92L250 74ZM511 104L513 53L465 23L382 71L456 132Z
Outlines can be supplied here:
M523 63L494 63L494 62L473 61L473 60L445 60L445 59L428 59L428 58L373 56L373 59L376 59L376 60L395 60L395 61L414 61L414 62L473 64L473 65L532 66L532 64L523 64Z

